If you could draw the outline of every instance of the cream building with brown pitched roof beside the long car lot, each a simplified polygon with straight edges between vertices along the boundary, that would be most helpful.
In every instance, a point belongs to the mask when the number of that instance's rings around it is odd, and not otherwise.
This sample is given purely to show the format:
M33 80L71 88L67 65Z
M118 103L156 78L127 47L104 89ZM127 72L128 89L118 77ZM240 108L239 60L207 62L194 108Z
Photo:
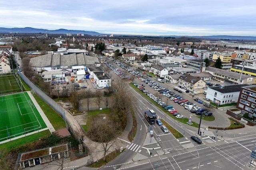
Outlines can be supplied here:
M204 87L206 83L196 76L191 76L190 74L183 74L178 80L178 87L189 90L194 94L200 94L204 92Z

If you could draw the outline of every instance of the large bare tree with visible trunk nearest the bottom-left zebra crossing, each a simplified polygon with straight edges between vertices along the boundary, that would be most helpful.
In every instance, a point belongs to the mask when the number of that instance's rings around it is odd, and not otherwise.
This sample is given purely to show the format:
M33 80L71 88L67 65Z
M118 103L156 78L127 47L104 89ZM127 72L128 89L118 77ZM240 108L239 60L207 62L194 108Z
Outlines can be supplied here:
M119 128L118 123L105 120L94 121L88 129L87 136L102 146L102 150L99 150L99 152L104 151L104 161L106 161L107 152L118 143L116 136L120 132Z

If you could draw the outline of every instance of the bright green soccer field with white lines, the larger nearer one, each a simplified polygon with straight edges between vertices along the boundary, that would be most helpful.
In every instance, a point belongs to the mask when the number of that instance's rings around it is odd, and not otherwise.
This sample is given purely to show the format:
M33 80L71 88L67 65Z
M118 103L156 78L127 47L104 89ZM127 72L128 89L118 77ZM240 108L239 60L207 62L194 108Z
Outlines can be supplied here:
M0 96L0 141L46 127L27 92Z

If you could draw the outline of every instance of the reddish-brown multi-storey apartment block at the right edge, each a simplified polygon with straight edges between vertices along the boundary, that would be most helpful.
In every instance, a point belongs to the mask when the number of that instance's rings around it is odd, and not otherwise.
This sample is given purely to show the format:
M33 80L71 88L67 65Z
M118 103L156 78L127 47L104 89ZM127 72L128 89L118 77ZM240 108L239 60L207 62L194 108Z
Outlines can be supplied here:
M244 86L240 89L240 95L236 107L242 110L242 115L248 113L249 117L256 119L256 86Z

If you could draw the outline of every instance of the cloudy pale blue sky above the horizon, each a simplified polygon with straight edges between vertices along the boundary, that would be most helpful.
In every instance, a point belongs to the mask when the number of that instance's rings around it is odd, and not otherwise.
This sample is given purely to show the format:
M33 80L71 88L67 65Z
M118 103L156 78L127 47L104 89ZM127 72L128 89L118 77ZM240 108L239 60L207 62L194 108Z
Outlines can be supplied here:
M256 0L0 0L0 27L256 36Z

